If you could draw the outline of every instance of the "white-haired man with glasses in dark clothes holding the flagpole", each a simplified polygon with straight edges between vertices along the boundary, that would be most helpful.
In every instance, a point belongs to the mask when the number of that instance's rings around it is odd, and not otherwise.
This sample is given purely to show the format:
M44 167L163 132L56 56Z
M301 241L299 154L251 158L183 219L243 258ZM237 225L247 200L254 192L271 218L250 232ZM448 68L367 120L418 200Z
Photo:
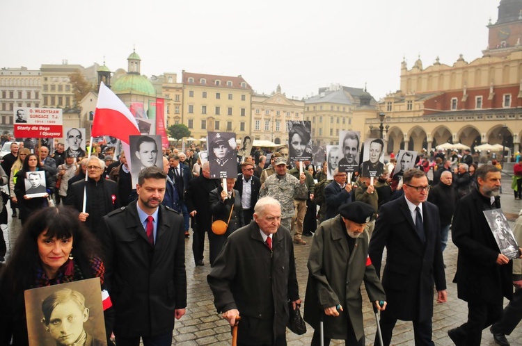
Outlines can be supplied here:
M102 179L105 163L96 156L90 156L87 162L87 181L81 180L69 185L64 204L79 211L78 218L85 222L93 233L98 229L102 217L120 208L118 186L114 181ZM84 209L84 192L87 195L86 210Z

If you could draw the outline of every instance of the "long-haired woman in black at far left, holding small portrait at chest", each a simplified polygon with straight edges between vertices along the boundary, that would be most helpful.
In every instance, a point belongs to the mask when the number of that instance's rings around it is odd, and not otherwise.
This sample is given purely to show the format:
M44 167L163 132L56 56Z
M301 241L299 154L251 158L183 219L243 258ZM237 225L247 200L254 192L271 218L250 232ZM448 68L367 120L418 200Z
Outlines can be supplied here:
M38 171L44 171L47 193L42 197L27 197L25 188L26 173ZM15 195L20 209L20 220L22 221L22 224L24 224L31 213L49 205L47 203L47 197L49 197L49 192L52 192L54 188L52 186L49 172L45 171L43 166L40 165L40 158L38 158L38 155L36 154L29 154L26 156L24 165L22 165L22 170L17 172L16 177Z

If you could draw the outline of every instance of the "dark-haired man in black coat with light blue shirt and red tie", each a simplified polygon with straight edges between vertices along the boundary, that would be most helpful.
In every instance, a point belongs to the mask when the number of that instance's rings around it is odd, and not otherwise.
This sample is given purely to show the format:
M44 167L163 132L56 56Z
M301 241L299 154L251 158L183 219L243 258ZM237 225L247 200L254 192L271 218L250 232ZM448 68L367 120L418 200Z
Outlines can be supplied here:
M161 204L166 174L141 170L138 201L103 218L98 238L104 247L105 278L116 311L118 346L170 346L174 319L185 314L182 216Z

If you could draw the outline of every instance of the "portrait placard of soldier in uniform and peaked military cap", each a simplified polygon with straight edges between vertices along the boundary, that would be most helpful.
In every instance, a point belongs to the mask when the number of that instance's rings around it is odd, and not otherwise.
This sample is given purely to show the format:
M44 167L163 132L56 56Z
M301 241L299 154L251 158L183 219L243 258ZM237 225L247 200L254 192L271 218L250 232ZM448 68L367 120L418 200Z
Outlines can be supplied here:
M237 143L233 132L208 133L210 178L237 177Z

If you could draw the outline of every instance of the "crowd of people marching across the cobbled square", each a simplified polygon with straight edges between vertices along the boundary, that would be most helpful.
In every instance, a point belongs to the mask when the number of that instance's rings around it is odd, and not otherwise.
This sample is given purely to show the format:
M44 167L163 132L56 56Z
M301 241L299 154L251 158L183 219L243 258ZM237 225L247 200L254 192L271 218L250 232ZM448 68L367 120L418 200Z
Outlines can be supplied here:
M365 345L363 281L381 311L383 345L392 343L397 320L412 321L416 345L434 345L433 302L447 301L443 251L450 231L459 249L454 282L469 311L461 327L448 331L450 338L480 345L482 329L493 325L496 342L509 345L505 334L522 318L522 273L500 253L482 213L500 208L498 163L479 167L469 152L438 153L434 160L419 155L408 169L414 156L406 152L377 164L383 144L374 141L375 163L370 166L370 155L363 167L352 150L358 142L343 143L324 162L312 163L290 162L286 146L248 153L245 141L237 145L243 149L237 176L224 180L212 179L198 148L164 148L163 170L142 167L135 186L125 153L113 160L110 147L86 147L92 155L82 158L61 143L54 153L13 143L0 167L8 192L0 223L7 223L11 208L22 232L0 269L0 345L28 343L24 290L91 277L111 296L106 343L171 345L175 320L187 308L189 238L194 265L211 267L207 282L216 310L232 327L241 320L237 345L286 345L290 313L302 303L304 320L315 329L311 345L332 339ZM299 141L290 149L301 153ZM339 164L332 164L334 156ZM346 172L353 163L361 169ZM513 182L520 199L522 163ZM522 218L517 224L521 244ZM301 300L294 246L307 244ZM504 297L512 299L505 312ZM77 306L85 311L84 303ZM61 345L88 345L86 331L75 335ZM377 334L375 340L381 344Z

